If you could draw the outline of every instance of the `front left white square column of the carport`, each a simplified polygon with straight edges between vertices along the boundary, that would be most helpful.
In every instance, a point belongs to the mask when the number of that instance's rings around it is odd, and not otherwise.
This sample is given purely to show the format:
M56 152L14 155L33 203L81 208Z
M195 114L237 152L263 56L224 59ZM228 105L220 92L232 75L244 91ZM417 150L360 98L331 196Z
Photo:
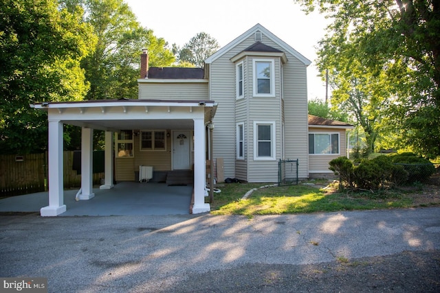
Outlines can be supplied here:
M40 213L43 217L59 215L66 211L63 191L63 123L49 120L49 205Z

